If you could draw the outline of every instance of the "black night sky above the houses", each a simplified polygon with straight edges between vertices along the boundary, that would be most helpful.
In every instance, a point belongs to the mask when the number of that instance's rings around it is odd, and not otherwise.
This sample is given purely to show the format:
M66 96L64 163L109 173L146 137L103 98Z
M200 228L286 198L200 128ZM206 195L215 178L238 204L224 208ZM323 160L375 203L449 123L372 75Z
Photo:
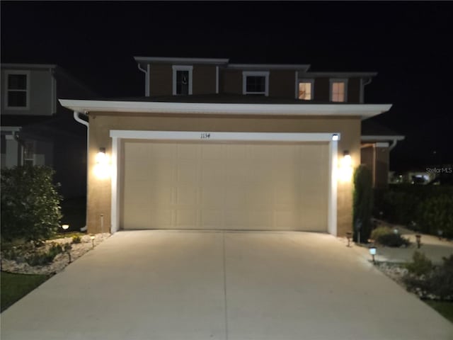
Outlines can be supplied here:
M379 72L365 102L406 135L391 168L452 164L452 2L1 1L1 62L58 64L100 97L142 96L134 56ZM448 105L450 104L450 105Z

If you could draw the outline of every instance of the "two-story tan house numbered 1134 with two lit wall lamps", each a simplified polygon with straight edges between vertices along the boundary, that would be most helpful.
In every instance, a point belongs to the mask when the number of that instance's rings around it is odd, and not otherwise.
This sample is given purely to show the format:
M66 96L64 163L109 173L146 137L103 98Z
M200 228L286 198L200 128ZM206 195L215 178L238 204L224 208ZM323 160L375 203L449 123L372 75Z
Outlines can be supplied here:
M88 232L352 226L372 72L135 57L144 97L60 99L89 122ZM61 97L62 98L62 97Z

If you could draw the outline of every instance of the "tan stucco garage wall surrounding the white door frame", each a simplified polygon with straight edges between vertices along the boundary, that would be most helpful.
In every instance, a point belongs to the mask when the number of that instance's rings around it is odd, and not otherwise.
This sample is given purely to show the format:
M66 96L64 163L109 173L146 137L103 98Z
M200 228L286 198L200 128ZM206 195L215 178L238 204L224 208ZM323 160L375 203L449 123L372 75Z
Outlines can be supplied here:
M133 116L133 118L132 118ZM88 232L110 228L110 179L97 179L93 168L100 147L111 154L110 130L165 130L211 132L340 132L338 155L348 150L353 166L360 162L360 118L293 118L250 116L133 115L97 113L89 115L90 147L88 154ZM352 182L338 182L338 235L352 226Z

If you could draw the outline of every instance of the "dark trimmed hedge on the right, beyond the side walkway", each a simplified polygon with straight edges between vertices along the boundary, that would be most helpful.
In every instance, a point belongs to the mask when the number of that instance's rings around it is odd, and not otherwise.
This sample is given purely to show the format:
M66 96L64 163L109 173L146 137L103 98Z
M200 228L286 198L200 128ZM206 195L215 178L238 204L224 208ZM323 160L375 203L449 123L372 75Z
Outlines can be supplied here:
M453 187L394 185L374 191L374 216L418 232L453 238ZM412 222L415 222L413 225Z

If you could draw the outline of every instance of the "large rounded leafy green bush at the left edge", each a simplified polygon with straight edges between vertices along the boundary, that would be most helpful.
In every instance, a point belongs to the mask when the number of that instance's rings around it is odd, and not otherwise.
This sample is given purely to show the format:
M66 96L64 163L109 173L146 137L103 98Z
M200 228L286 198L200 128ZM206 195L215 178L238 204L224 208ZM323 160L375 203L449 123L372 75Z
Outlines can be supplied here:
M47 239L62 218L60 196L47 166L1 170L1 237L6 241Z

